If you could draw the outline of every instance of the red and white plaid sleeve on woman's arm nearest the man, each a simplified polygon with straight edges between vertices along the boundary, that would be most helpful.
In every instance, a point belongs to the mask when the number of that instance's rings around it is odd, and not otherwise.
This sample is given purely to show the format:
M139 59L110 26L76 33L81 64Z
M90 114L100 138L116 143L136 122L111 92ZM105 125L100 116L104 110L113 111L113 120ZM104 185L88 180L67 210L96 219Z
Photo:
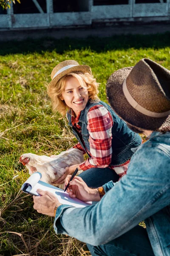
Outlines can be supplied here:
M112 116L105 107L96 105L88 111L87 128L90 134L91 158L88 158L80 165L83 171L94 167L105 168L110 165L112 156L112 126Z

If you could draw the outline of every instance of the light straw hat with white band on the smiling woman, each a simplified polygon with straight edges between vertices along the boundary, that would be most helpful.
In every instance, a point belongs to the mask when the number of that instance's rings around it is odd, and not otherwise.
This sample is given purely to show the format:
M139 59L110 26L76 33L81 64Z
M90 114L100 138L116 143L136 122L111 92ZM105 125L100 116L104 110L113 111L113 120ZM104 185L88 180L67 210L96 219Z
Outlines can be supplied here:
M51 72L51 82L48 85L47 93L49 96L51 96L51 88L54 88L59 81L60 78L63 76L75 72L80 71L82 73L91 73L91 68L87 65L79 65L77 61L68 60L68 61L62 61L57 66L54 67L54 69Z

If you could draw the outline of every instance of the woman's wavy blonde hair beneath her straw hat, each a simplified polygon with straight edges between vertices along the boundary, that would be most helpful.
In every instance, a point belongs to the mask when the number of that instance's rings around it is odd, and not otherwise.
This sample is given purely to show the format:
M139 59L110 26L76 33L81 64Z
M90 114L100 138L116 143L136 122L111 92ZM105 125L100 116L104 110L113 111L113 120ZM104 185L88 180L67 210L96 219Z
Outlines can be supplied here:
M62 114L62 117L65 116L68 106L65 104L64 100L60 99L62 92L65 88L65 82L69 77L75 77L83 88L88 89L88 99L91 102L99 102L99 97L97 94L99 93L98 86L99 84L96 82L94 76L90 75L89 73L82 73L82 72L72 72L65 76L63 76L57 82L54 88L51 88L51 101L53 111L58 111ZM86 87L87 86L87 87Z

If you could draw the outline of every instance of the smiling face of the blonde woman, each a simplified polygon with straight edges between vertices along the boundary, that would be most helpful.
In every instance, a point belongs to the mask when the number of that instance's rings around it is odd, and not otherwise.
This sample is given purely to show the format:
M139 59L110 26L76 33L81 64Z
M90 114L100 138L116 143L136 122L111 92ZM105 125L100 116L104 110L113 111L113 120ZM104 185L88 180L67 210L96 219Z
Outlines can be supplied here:
M69 108L73 109L77 116L88 102L88 89L83 88L79 81L71 76L65 81L65 88L60 98Z

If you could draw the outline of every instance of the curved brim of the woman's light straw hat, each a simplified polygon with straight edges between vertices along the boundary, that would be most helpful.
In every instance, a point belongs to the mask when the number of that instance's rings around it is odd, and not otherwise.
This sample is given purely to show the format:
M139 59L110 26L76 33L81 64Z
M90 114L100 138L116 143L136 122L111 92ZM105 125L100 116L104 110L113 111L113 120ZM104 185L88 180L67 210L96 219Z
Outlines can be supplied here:
M59 79L61 79L65 75L68 75L71 72L78 72L78 71L82 73L89 73L90 75L92 75L91 67L87 65L77 65L74 67L70 67L67 70L64 70L61 73L59 73L59 75L57 75L56 77L54 77L54 79L51 80L47 88L48 95L51 96L51 89L56 87L56 84L59 81Z

